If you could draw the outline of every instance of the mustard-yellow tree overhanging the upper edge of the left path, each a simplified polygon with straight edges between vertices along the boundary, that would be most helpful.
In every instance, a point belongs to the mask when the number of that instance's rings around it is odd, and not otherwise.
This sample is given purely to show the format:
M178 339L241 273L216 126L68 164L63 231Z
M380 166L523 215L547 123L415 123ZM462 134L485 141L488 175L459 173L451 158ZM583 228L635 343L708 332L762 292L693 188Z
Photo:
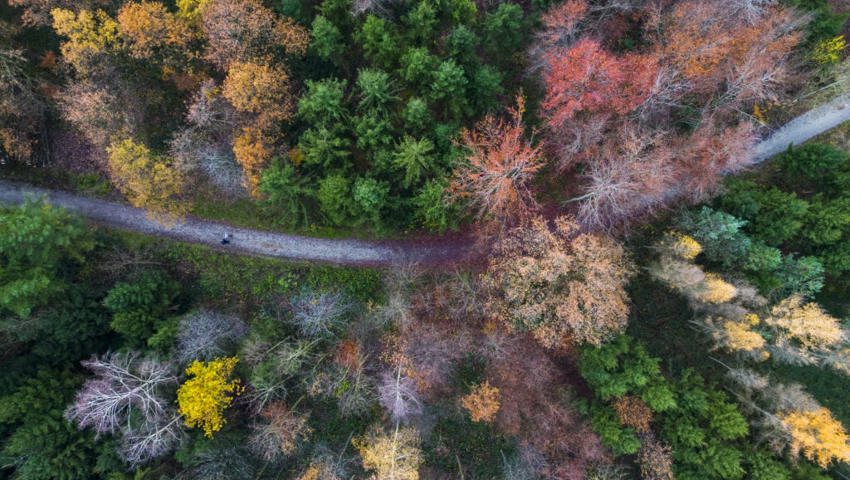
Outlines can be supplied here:
M173 221L188 206L179 199L185 180L179 169L132 139L112 142L109 174L135 207L145 208L159 221Z

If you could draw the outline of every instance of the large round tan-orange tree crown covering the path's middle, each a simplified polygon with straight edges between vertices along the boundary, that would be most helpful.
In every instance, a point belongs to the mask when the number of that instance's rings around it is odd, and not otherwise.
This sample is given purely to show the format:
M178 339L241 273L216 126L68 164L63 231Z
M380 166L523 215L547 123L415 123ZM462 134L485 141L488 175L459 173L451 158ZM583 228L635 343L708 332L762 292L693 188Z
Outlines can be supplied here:
M614 240L580 233L570 218L554 232L537 218L500 241L485 276L492 309L509 328L548 348L599 345L628 321L632 267Z

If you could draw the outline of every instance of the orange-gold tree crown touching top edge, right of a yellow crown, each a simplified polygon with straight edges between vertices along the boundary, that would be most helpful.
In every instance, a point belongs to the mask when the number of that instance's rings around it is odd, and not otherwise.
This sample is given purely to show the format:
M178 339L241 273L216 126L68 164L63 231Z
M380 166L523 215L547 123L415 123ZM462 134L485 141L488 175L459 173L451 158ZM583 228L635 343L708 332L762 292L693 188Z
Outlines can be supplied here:
M125 3L118 10L118 27L130 55L151 58L163 48L185 50L193 39L189 26L159 2Z

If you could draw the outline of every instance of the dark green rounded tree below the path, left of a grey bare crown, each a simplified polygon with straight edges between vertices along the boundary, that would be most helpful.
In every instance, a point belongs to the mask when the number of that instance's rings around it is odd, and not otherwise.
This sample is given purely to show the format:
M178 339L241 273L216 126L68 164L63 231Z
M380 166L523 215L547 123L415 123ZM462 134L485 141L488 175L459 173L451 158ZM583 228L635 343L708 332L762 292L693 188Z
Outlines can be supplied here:
M156 270L145 271L132 282L116 283L103 299L103 305L112 312L110 326L130 344L145 345L165 325L179 287Z

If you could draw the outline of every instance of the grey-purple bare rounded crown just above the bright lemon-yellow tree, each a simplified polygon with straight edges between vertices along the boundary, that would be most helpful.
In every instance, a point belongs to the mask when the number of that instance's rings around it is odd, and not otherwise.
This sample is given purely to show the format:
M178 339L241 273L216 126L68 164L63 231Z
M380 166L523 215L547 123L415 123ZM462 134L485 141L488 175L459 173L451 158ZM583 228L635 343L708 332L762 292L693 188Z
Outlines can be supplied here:
M180 320L177 359L188 363L224 355L247 332L239 317L206 309L190 313Z

